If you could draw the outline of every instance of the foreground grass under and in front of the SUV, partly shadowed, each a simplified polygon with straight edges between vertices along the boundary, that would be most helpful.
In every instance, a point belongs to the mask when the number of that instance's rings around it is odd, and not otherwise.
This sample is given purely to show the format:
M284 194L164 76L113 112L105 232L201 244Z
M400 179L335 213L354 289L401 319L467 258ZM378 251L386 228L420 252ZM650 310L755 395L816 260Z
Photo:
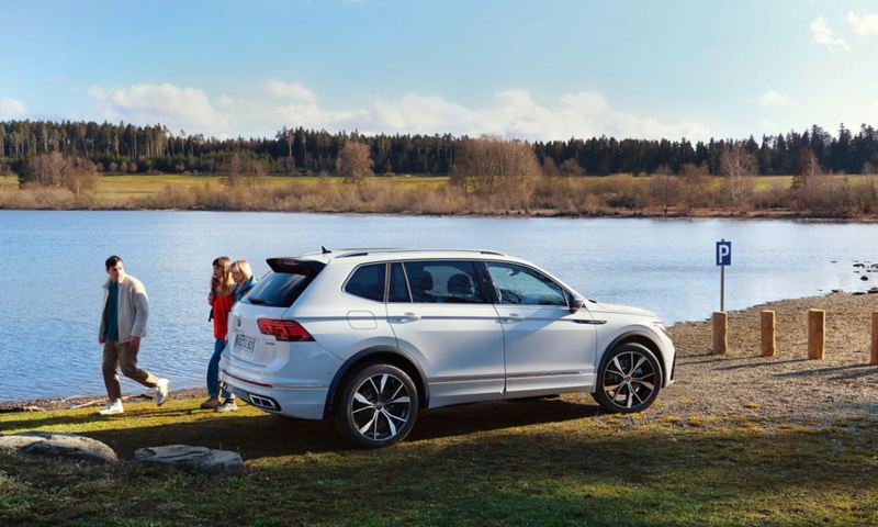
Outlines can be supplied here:
M0 415L0 429L238 451L206 478L0 455L1 525L875 525L876 423L624 417L565 397L421 415L409 439L350 450L329 423L171 401Z

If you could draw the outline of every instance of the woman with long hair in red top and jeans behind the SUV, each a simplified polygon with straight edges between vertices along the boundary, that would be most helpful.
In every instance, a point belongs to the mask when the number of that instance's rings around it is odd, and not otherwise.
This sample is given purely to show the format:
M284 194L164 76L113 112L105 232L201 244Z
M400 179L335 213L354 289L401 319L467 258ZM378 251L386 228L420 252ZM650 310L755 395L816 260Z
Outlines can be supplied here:
M223 390L224 402L219 402L219 357L228 341L228 312L235 303L235 281L232 278L232 259L221 256L213 260L213 277L211 278L211 292L207 293L207 303L211 304L211 318L213 318L213 337L216 339L213 356L207 365L207 401L201 403L204 410L229 412L238 410L235 395Z

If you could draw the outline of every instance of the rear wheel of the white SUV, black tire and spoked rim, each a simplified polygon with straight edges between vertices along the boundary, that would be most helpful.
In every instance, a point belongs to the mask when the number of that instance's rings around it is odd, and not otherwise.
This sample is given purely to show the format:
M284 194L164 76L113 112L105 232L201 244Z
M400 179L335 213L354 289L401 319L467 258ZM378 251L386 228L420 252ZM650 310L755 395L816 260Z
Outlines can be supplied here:
M418 416L418 391L391 365L370 365L347 378L334 405L336 429L358 448L402 441Z

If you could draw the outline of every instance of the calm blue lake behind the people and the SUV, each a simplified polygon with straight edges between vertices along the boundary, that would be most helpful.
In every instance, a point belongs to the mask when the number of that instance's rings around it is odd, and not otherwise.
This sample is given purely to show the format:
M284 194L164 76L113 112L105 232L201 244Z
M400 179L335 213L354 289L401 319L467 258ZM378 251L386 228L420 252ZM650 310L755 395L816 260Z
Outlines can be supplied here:
M732 240L727 310L878 285L878 273L853 267L878 260L877 224L0 211L0 401L104 393L98 319L112 254L150 299L139 365L180 389L204 384L216 256L247 259L261 276L266 258L322 245L498 250L544 267L589 299L646 307L671 324L719 309L721 238ZM143 389L124 380L123 390Z

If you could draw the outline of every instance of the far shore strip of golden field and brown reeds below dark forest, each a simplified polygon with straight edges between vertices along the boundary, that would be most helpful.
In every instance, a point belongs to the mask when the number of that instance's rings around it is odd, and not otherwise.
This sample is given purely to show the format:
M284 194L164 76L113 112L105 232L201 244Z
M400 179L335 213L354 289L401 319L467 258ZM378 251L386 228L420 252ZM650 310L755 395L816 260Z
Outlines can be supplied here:
M730 201L725 178L705 177L695 193L675 182L673 199L662 193L661 178L541 177L476 193L452 184L446 176L375 176L359 183L338 177L266 176L232 184L218 175L109 175L75 193L59 187L19 189L16 178L2 176L0 210L878 222L878 200L864 176L826 177L838 178L821 183L834 181L838 198L814 201L813 206L806 206L808 200L792 189L792 177L787 176L755 178L750 197L738 205Z

